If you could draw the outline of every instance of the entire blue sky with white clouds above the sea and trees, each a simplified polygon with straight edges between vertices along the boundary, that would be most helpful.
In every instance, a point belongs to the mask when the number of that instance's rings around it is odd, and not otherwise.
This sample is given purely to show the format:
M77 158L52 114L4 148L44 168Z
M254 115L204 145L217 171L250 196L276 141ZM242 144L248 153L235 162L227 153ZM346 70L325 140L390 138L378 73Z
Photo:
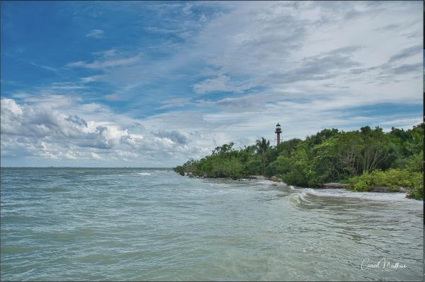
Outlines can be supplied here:
M1 165L172 167L422 120L422 1L1 1Z

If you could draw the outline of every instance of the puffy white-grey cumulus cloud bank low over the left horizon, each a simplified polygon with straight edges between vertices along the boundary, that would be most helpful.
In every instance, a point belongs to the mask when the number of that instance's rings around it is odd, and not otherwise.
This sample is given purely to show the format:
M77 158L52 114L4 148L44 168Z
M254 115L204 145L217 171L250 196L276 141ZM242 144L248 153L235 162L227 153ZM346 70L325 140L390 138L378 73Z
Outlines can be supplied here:
M189 148L188 135L177 130L144 131L136 122L133 127L123 129L111 120L87 120L57 109L42 102L20 105L13 99L1 98L2 158L19 155L44 160L118 163L142 158L161 163L155 159L161 152L177 163L176 158L182 158L186 151L203 151L198 146ZM131 128L137 131L130 133Z

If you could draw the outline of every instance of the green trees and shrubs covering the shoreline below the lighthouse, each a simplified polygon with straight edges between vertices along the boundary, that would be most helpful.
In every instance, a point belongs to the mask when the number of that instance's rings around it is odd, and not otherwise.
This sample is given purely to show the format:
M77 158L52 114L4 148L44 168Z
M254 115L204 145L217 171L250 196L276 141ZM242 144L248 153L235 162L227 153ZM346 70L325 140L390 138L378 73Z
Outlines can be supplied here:
M358 131L323 129L305 140L291 139L270 146L264 138L234 149L234 143L215 148L200 160L174 168L181 175L232 177L276 176L300 187L327 182L348 183L352 191L373 187L409 189L408 196L424 199L424 124L412 129L362 127Z

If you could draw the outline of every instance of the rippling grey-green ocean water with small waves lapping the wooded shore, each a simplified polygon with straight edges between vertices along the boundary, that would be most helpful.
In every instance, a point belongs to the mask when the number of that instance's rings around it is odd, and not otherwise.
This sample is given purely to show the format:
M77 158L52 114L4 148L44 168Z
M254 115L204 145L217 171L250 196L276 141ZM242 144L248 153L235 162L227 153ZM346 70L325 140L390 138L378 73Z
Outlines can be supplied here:
M1 280L423 278L423 203L399 193L1 168L0 214Z

